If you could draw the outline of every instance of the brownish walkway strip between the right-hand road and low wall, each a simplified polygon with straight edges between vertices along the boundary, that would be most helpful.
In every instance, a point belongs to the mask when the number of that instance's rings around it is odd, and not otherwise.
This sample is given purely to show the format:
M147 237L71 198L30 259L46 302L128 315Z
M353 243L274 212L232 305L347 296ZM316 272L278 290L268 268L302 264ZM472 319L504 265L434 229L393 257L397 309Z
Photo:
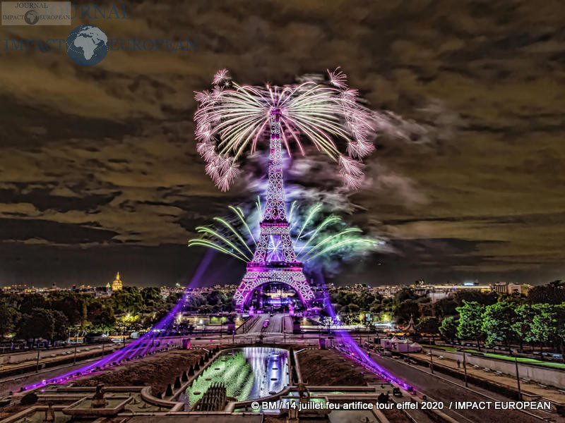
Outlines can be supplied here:
M417 357L420 360L429 362L429 355L427 355L426 353L410 353L410 357ZM455 370L456 372L464 374L463 363L461 363L461 367L458 369L457 362L455 360L450 360L448 358L439 359L436 355L434 355L434 364L441 364L445 367L451 367L451 369ZM478 377L479 379L487 379L489 381L493 381L496 384L509 386L514 389L516 389L517 387L515 376L509 376L508 374L497 374L492 370L490 372L485 372L482 367L475 369L475 367L467 364L467 374ZM520 386L523 393L530 393L533 394L533 396L542 396L543 398L552 400L555 403L565 403L565 391L560 392L556 388L544 388L542 386L539 386L534 381L520 381Z

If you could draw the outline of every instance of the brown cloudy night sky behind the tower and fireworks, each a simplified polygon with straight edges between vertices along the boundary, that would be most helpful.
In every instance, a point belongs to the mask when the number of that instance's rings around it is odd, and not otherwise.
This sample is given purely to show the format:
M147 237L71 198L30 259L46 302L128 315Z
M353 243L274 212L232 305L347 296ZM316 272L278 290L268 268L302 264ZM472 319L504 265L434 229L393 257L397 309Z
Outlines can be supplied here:
M334 281L564 276L557 2L168 3L126 4L129 20L0 27L0 285L101 285L118 270L144 286L188 281L204 255L186 247L194 227L254 200L204 174L194 91L218 68L284 84L335 66L396 118L367 160L369 183L347 199L347 220L390 248ZM87 68L65 51L4 49L81 23L110 39L196 39L196 50L109 51ZM206 283L239 282L242 265L214 262Z

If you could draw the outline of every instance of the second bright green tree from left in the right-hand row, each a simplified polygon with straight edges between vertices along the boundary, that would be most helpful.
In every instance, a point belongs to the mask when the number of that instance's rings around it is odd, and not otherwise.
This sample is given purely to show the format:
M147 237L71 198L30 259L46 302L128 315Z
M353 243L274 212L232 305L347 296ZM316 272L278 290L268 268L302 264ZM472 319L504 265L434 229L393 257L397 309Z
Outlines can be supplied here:
M482 331L487 334L487 346L499 342L508 345L509 341L517 338L518 334L513 327L517 318L514 305L508 300L487 305L482 314L481 326Z

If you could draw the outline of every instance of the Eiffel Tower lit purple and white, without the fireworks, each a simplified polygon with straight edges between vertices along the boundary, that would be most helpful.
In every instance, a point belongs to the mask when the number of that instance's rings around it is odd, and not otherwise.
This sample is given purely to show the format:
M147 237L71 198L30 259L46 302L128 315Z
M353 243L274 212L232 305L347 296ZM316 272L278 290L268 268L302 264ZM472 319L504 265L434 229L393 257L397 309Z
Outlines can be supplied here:
M270 111L267 203L253 260L247 262L247 271L234 295L239 312L244 311L254 290L266 283L278 282L290 286L307 309L314 298L304 277L302 263L296 258L288 230L279 118L279 109Z

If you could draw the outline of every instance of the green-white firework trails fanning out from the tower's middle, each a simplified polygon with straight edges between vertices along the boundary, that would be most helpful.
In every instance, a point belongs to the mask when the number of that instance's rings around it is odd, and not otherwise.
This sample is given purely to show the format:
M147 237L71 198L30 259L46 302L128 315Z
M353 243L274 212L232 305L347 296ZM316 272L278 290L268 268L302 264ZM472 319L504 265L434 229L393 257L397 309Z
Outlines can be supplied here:
M214 224L198 226L201 237L189 240L189 247L203 246L213 248L242 262L250 262L256 246L257 228L262 218L261 201L258 199L253 212L246 216L242 207L229 206L230 217L215 217ZM288 214L292 244L299 261L310 266L323 266L324 261L335 262L366 255L380 250L383 241L363 235L359 228L348 227L340 216L323 214L323 204L310 207L298 206L292 202ZM268 245L270 259L282 254L282 245L273 242Z

